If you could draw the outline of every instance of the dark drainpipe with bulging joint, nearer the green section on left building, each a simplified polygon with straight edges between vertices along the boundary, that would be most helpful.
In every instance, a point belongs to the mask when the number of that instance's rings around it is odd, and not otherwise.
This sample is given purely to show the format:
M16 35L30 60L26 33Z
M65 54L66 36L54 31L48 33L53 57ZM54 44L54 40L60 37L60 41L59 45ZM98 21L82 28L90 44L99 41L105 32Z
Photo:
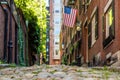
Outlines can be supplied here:
M12 41L12 4L13 0L10 0L10 27L9 27L9 41L8 41L8 63L12 63L12 50L13 50L13 41Z

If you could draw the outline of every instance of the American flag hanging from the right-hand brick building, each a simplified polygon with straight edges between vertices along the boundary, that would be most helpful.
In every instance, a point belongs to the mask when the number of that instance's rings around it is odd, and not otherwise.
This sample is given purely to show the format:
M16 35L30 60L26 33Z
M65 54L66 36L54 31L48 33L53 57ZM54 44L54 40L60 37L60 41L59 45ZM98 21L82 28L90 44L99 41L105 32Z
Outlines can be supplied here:
M73 27L76 21L77 9L64 7L63 24L68 27Z

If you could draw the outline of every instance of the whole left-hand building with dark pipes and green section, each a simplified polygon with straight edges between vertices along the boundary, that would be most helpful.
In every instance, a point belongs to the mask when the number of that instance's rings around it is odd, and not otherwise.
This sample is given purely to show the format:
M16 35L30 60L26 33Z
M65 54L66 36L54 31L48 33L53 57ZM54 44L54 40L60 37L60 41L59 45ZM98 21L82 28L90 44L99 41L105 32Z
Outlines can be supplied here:
M28 64L27 27L22 12L16 9L14 2L1 0L0 18L0 60Z

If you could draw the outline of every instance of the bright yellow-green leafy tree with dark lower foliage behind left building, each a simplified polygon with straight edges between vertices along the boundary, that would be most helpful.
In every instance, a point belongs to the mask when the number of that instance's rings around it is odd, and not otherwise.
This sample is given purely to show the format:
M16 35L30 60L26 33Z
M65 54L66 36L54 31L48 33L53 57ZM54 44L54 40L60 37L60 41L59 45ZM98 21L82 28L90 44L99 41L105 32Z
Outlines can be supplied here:
M28 20L29 47L34 53L45 53L46 45L46 22L48 12L44 0L15 0L16 6L22 10ZM42 29L42 34L40 34ZM42 42L40 37L42 36Z

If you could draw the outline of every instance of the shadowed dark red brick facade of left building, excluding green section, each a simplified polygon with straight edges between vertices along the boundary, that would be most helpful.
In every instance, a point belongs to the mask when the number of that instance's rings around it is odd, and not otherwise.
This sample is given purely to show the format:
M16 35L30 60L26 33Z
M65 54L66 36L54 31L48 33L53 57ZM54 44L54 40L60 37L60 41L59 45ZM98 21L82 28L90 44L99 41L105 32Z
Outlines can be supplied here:
M19 54L18 54L18 22L15 19L15 17L18 15L10 15L10 6L5 2L5 1L0 1L0 60L4 60L5 62L8 63L16 63L19 64ZM14 6L15 7L15 6ZM13 10L14 11L14 10ZM17 12L17 11L16 11ZM12 13L12 12L11 12ZM27 29L26 29L26 23L23 21L23 16L21 13L17 12L17 14L20 14L20 24L23 30L23 35L24 36L24 46L26 49L24 49L25 57L27 57ZM10 19L10 16L12 17ZM12 21L10 21L12 20ZM12 22L12 23L11 23ZM11 40L12 40L12 46L9 46L9 37L10 37L10 24L12 27L11 30ZM11 55L9 55L9 47L11 48ZM9 57L10 56L10 57ZM25 58L25 60L27 60ZM25 61L27 62L27 61ZM28 63L27 63L28 64Z

